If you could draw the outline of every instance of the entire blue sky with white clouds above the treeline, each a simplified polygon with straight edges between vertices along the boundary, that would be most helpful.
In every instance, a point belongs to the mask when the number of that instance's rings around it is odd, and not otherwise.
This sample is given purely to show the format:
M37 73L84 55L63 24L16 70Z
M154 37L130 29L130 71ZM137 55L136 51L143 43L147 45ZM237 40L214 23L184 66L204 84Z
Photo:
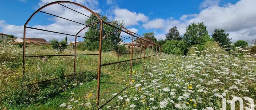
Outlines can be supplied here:
M142 35L154 32L156 38L165 38L168 29L176 25L181 34L193 22L204 22L209 34L215 28L223 28L230 33L235 42L239 39L256 38L256 1L255 0L177 0L177 1L137 1L137 0L71 0L82 4L93 11L106 15L109 19L124 20L125 27ZM0 7L0 32L22 37L23 25L31 14L39 7L53 0L12 0L1 1L5 7ZM63 4L75 10L90 14L81 7ZM64 9L64 10L63 10ZM61 11L62 10L62 11ZM60 5L52 5L45 12L66 17L83 23L86 17L70 12ZM59 20L56 17L38 13L28 24L40 29L76 34L82 26ZM86 30L84 31L86 32ZM81 36L83 36L82 32ZM126 34L122 34L128 36ZM49 32L39 32L27 29L26 36L63 39L63 35ZM65 37L65 36L64 36ZM73 41L72 36L68 36ZM83 40L83 39L78 39ZM128 42L128 41L127 41Z

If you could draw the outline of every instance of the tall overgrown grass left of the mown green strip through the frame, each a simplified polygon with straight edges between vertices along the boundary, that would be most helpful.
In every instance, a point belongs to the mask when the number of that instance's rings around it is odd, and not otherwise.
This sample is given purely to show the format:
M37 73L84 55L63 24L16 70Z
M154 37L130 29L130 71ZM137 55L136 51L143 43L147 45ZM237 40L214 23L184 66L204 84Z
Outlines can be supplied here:
M73 75L74 56L26 57L24 81L22 82L22 48L1 43L0 52L0 108L26 108L32 102L45 102L48 98L62 92L79 88L81 83L95 82L94 79L97 78L95 69L98 69L98 55L77 56L75 75ZM98 52L77 51L77 54L98 54ZM74 50L61 51L46 46L28 45L26 55L74 55ZM133 58L138 56L141 55L134 55ZM119 57L119 61L130 58L130 54L123 54ZM118 56L113 52L102 53L102 64L117 61ZM133 66L138 64L142 64L142 61L133 61ZM109 71L123 72L127 68L130 68L130 61L104 66L102 67L102 77L107 78L108 74L111 74ZM51 81L36 83L45 80ZM31 83L36 84L23 86Z

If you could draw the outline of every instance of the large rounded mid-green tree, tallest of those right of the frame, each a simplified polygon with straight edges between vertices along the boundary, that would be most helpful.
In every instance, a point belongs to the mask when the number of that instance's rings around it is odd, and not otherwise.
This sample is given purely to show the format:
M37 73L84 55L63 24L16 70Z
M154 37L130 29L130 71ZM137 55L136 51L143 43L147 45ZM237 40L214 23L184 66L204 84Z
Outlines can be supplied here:
M201 23L191 23L184 33L183 39L184 42L191 47L196 44L204 44L206 41L211 40L206 30L207 26Z

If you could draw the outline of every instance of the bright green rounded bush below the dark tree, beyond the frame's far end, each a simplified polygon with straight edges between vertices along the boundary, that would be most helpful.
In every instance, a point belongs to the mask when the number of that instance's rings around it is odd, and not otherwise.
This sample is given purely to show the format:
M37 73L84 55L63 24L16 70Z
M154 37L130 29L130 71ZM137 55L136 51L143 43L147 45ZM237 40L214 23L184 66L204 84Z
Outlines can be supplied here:
M162 45L166 54L184 54L186 45L183 41L171 40Z

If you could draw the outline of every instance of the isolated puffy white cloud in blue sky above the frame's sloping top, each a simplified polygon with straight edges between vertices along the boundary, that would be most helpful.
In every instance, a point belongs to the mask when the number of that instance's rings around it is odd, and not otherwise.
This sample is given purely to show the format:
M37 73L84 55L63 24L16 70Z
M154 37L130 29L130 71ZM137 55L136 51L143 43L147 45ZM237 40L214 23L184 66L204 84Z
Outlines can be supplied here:
M136 13L136 12L131 12L127 9L120 9L116 8L114 10L114 19L117 20L124 20L126 26L131 26L131 25L138 25L138 22L141 21L143 23L148 21L148 17L145 16L142 13Z

